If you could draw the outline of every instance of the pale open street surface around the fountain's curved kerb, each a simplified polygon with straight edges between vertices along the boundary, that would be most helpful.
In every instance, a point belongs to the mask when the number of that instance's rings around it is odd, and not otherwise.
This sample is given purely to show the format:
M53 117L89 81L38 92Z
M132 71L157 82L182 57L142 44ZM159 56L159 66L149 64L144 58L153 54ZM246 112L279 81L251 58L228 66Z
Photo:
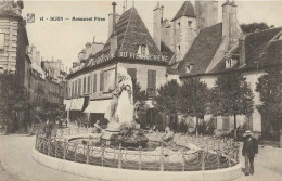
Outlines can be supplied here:
M36 163L31 157L31 150L35 145L35 137L16 134L1 135L0 144L1 181L93 180L53 170ZM242 156L241 164L244 167L244 159ZM255 158L255 174L245 177L242 173L242 177L236 179L236 181L280 181L282 180L281 165L281 148L259 146L259 154Z

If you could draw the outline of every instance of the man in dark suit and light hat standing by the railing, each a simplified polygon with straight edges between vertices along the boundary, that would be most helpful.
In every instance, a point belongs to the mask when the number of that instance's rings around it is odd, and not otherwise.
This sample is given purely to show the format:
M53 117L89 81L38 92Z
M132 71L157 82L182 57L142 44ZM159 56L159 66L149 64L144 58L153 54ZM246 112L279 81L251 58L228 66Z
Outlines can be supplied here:
M254 174L254 157L258 153L257 140L253 138L252 131L245 131L242 155L245 157L245 176Z

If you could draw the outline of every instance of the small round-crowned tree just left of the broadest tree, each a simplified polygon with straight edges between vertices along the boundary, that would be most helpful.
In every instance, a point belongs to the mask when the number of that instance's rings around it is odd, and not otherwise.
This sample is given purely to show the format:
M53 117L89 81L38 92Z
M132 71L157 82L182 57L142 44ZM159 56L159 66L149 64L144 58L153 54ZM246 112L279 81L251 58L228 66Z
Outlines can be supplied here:
M209 90L198 78L185 80L181 87L181 113L196 117L196 135L198 134L198 119L204 117L208 107Z

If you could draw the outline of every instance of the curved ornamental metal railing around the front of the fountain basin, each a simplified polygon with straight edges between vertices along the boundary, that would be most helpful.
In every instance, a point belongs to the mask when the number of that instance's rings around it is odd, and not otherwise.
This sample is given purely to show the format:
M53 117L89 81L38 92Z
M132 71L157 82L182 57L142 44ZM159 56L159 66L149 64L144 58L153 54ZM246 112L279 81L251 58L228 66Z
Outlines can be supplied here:
M69 131L55 132L60 132L61 135L72 133ZM121 145L113 147L104 144L93 146L89 143L69 142L54 134L46 138L39 132L36 137L35 148L44 155L94 166L154 171L198 171L228 168L239 163L239 145L232 141L223 142L225 146L221 146L221 143L217 144L220 146L216 148L213 144L207 145L209 140L205 142L206 144L201 143L198 150L171 152L164 146L156 150L141 146L126 148ZM206 140L202 138L202 141Z

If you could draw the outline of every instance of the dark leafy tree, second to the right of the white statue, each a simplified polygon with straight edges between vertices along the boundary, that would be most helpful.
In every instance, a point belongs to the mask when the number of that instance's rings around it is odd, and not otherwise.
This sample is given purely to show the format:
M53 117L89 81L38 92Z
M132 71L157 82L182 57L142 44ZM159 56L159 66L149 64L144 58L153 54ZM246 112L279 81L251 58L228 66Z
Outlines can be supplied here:
M172 116L174 120L170 125L176 124L177 114L180 111L180 85L178 85L177 81L171 80L166 85L161 86L157 92L158 94L155 98L156 108Z

